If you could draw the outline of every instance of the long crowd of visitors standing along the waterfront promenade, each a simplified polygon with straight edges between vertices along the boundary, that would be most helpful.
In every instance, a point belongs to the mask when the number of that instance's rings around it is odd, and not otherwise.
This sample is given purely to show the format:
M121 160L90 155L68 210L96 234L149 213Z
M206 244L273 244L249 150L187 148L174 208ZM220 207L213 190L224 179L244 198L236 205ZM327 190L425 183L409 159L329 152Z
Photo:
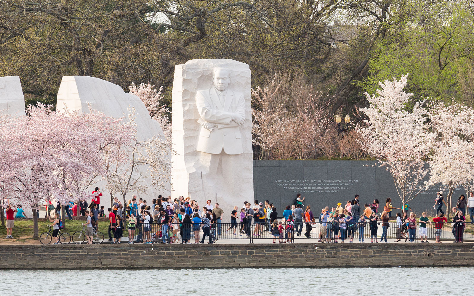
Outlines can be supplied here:
M470 192L469 195L467 200L464 195L461 195L456 207L452 208L454 215L452 233L456 242L463 242L466 209L473 221L474 194ZM228 214L230 223L225 224L222 223L224 211L219 207L219 203L213 205L211 200L207 200L201 207L198 201L190 197L180 196L173 199L170 196L159 196L152 199L151 204L147 204L146 200L137 199L134 195L123 205L116 197L106 214L104 206L100 206L102 196L100 188L95 188L92 196L90 204L86 200L72 203L73 213L71 213L87 217L84 225L87 226L88 243L91 243L92 230L99 225L99 218L106 216L109 218L109 241L113 243L121 242L124 229L128 230L126 234L128 234L129 243L172 243L180 240L181 243L192 243L191 237L194 243L204 243L206 239L209 243L213 243L211 236L219 238L222 232L227 234L226 238L232 236L260 238L264 232L267 232L268 234L264 237L273 238L273 243L276 241L289 243L300 236L306 238L314 236L318 238L318 242L352 243L357 238L359 242L365 242L365 235L370 237L370 242L377 243L379 239L381 242L387 242L388 229L391 225L396 227L395 242L401 242L401 240L414 242L417 228L421 242L428 242L427 226L433 223L436 242L441 242L442 228L447 223L442 209L443 203L447 204L442 191L438 192L433 206L437 210L437 216L431 221L425 212L417 217L408 204L405 204L403 209L392 206L391 198L387 198L384 205L381 205L378 199L374 199L373 203L361 206L358 195L352 200L347 200L344 206L342 203L337 203L337 206L331 209L328 206L322 208L318 218L311 211L311 206L303 205L305 197L298 194L293 204L286 206L281 215L277 213L277 209L269 200L264 200L264 202L255 200L253 205L245 201L241 208L234 206L233 211ZM50 221L60 218L59 203L53 208L48 204L46 206L49 207L47 212L55 210L55 219L50 219ZM396 213L395 223L389 223L396 209L402 211ZM68 206L66 213L70 218L69 210L71 207ZM17 218L26 217L21 206L6 208L7 238L12 238L14 212L17 213ZM57 223L52 226L55 224ZM377 234L379 227L382 227L380 237ZM316 235L313 233L314 229L317 229ZM367 233L368 231L370 233ZM200 238L201 234L202 238Z

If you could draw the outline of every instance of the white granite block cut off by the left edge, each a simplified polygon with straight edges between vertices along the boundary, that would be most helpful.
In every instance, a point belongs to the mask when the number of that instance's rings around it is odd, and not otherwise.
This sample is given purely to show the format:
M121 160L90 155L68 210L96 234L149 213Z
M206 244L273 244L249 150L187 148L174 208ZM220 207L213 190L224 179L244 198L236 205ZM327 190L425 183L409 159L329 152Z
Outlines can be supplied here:
M0 77L0 112L22 116L25 113L25 97L18 76Z

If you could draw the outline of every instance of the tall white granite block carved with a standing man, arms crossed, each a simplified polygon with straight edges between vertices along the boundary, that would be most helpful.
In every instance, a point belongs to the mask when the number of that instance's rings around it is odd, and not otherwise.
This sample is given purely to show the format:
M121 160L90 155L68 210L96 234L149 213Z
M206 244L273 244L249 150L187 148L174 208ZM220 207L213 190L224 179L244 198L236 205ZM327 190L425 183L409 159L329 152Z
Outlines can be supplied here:
M175 66L172 104L172 197L210 199L224 209L254 199L251 75L228 59Z

